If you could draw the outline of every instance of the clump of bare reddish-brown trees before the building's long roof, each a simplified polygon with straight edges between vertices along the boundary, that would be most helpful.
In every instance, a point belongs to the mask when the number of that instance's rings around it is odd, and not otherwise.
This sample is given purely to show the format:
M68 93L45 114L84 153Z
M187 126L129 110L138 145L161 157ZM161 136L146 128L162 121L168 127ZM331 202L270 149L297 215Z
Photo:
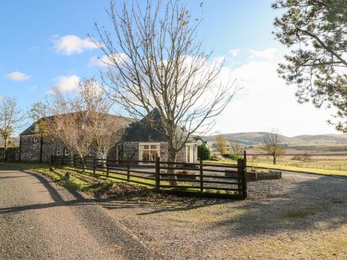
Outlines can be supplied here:
M112 105L92 78L83 80L75 93L53 88L46 103L35 103L29 114L40 119L38 135L62 142L70 154L75 151L82 158L96 147L94 154L104 157L121 140L124 127L119 116L108 114Z

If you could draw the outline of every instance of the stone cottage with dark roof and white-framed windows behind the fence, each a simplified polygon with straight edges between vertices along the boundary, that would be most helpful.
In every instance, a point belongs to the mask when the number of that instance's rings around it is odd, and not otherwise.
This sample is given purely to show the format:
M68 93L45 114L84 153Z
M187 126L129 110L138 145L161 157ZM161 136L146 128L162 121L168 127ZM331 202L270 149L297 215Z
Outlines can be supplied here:
M128 159L153 161L159 156L162 161L167 161L167 141L157 130L148 126L146 117L141 121L134 121L122 116L125 130L123 141L115 148L110 149L110 159ZM69 150L60 142L52 141L48 137L39 135L38 125L33 123L20 134L19 160L23 162L49 162L51 155L69 156ZM93 157L92 149L90 157ZM194 139L185 144L185 148L177 155L177 162L195 163L197 161L197 146Z

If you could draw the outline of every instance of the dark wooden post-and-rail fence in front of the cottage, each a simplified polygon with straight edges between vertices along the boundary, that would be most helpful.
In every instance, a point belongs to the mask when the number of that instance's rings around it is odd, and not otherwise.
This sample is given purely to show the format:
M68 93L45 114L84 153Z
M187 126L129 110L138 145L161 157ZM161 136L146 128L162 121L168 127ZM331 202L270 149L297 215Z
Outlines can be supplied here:
M141 184L155 191L182 195L247 198L246 154L237 166L228 164L198 164L184 162L128 161L92 157L51 156L52 166L70 167L81 174Z

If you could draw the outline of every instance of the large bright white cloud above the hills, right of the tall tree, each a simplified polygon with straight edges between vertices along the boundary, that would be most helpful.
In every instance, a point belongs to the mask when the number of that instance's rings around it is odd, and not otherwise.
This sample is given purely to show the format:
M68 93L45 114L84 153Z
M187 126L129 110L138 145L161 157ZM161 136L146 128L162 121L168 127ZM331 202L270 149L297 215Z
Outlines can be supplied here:
M263 52L260 54L263 58L269 57ZM253 132L278 128L288 136L336 133L334 127L326 123L332 110L324 107L318 110L312 103L296 102L296 86L287 86L276 72L281 60L282 55L278 53L271 56L271 60L249 60L237 69L223 68L221 80L236 78L244 89L217 116L214 131Z

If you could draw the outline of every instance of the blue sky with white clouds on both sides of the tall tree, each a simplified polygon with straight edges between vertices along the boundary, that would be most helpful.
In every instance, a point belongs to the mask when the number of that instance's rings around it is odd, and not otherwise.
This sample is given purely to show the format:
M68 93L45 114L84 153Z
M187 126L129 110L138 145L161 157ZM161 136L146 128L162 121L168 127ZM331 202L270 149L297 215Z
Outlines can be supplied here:
M269 131L287 136L338 133L326 120L334 111L296 102L276 69L289 51L274 40L273 0L188 1L203 17L198 37L213 57L226 58L221 76L242 89L216 118L214 133ZM15 96L22 110L53 86L74 91L81 78L99 76L102 53L90 42L94 21L110 27L108 0L0 2L0 96ZM30 123L28 120L26 123Z

